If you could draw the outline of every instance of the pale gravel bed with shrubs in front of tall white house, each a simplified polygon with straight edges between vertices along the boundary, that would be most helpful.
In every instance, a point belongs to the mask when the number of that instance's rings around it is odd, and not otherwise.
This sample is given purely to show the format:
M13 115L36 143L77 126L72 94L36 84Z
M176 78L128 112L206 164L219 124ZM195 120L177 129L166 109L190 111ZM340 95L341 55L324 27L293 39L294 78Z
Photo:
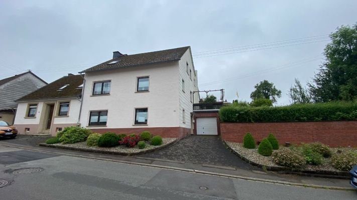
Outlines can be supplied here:
M77 142L77 143L71 143L71 144L62 144L62 143L55 143L51 144L54 146L67 146L67 147L73 147L73 148L80 148L80 149L91 149L91 150L102 150L102 151L108 151L108 152L121 152L121 153L139 153L155 148L159 148L165 145L168 145L174 141L176 141L177 138L162 138L162 144L159 146L154 146L149 144L148 142L145 145L145 148L138 148L138 146L134 147L127 147L126 145L118 145L114 147L99 147L99 146L87 146L85 141L82 142Z

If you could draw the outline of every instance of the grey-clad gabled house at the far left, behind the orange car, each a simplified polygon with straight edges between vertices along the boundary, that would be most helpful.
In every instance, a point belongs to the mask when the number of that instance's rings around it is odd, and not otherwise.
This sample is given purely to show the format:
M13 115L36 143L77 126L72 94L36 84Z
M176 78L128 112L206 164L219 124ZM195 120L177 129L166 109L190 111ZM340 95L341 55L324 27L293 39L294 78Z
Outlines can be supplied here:
M0 80L0 120L13 124L18 106L15 100L46 84L46 81L32 71Z

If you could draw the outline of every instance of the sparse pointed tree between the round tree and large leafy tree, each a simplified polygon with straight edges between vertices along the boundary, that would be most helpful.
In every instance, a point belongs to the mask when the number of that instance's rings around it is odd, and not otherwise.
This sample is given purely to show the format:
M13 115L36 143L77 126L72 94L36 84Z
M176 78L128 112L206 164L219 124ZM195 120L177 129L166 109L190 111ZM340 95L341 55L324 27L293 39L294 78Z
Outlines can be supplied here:
M295 78L294 86L290 87L288 95L292 103L310 103L312 101L309 90L303 87L297 78Z

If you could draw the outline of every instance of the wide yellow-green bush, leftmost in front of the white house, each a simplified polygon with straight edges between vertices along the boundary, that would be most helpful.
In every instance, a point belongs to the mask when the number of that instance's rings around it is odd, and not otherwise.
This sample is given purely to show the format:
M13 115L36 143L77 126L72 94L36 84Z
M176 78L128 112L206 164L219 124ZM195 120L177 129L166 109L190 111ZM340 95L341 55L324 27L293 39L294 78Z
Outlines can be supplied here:
M78 126L65 127L62 131L57 133L59 136L59 141L62 143L76 143L80 141L85 141L87 136L91 134L92 131Z

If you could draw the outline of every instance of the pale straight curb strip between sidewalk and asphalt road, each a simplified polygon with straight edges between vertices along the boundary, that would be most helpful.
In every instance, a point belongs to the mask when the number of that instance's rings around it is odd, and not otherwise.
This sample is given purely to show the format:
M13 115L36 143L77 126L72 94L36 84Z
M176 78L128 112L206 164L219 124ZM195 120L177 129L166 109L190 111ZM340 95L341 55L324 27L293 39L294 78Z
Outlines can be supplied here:
M115 159L110 159L110 158L90 157L90 156L76 155L76 154L71 154L71 153L51 152L51 151L46 151L46 150L37 150L37 149L31 149L31 148L7 145L7 144L2 144L2 143L0 143L0 145L8 146L8 147L21 148L21 149L26 149L26 150L31 150L31 151L51 153L51 154L59 154L59 155L67 155L67 156L88 158L88 159L93 159L93 160L119 162L119 163L125 163L125 164L134 164L134 165L139 165L139 166L162 168L162 169L176 170L176 171L186 171L186 172L190 172L190 173L197 173L197 174L203 174L203 175L213 175L213 176L219 176L219 177L237 178L237 179L252 180L252 181L258 181L258 182L267 182L267 183L273 183L273 184L312 187L312 188L321 188L321 189L355 191L355 189L350 188L350 187L304 184L304 183L288 182L288 181L281 181L281 180L272 180L272 179L265 179L265 178L253 178L253 177L248 177L248 176L232 175L232 174L226 174L226 173L216 173L216 172L211 172L211 171L195 170L195 169L190 169L190 168L181 168L181 167L165 166L165 165L149 164L149 163L141 163L141 162L133 162L133 161L126 161L126 160L115 160Z

